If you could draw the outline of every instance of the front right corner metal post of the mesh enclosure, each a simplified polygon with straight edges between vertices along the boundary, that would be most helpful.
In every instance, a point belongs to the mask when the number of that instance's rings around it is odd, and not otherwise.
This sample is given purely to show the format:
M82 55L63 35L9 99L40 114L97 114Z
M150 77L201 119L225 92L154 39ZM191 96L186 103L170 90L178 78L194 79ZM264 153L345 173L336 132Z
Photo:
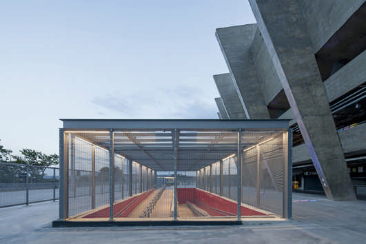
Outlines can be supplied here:
M292 219L292 129L283 133L283 218Z

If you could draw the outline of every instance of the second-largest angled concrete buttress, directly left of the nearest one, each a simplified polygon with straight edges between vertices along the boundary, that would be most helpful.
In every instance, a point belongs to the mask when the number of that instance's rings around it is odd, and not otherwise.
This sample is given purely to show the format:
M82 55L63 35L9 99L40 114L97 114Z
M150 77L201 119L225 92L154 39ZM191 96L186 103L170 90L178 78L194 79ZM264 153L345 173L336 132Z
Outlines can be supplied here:
M227 67L248 119L270 119L251 52L256 23L216 29Z

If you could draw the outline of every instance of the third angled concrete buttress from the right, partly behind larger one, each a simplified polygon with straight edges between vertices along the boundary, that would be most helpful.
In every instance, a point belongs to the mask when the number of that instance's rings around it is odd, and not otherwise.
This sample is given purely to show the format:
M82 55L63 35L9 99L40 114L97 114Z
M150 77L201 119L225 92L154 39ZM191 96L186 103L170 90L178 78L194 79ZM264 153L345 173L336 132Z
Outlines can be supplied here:
M215 74L214 81L221 99L223 99L229 119L247 119L234 82L232 82L232 76L229 73Z

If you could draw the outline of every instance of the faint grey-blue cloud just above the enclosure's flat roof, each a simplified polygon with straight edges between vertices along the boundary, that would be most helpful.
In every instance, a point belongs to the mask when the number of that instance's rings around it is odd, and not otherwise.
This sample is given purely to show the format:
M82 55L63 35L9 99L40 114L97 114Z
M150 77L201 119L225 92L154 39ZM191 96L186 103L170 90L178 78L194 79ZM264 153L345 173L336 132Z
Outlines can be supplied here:
M95 97L92 103L105 114L112 110L125 119L216 119L211 94L192 85L114 92Z

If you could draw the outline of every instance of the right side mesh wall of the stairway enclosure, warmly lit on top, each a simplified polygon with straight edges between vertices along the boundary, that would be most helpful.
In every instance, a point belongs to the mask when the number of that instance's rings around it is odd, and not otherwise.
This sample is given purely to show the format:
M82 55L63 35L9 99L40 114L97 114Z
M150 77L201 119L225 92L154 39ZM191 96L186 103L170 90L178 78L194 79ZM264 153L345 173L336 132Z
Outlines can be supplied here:
M285 154L283 133L247 133L264 139L243 152L243 203L283 214Z

